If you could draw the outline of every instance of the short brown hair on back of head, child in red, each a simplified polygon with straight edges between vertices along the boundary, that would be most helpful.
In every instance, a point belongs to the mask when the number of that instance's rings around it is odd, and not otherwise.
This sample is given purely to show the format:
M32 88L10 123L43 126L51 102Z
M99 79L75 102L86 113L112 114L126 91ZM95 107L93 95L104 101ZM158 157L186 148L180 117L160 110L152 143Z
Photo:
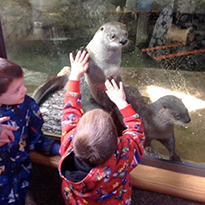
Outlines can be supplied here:
M111 116L101 110L86 112L73 136L76 157L90 164L101 164L117 149L117 130Z

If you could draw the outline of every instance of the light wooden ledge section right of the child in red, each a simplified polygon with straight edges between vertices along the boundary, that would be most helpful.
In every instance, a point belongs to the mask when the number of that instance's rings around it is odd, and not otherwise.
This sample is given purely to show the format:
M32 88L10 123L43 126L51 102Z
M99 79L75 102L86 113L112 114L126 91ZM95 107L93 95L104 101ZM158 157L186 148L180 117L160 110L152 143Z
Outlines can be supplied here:
M131 177L136 188L205 203L205 177L141 164L131 172Z

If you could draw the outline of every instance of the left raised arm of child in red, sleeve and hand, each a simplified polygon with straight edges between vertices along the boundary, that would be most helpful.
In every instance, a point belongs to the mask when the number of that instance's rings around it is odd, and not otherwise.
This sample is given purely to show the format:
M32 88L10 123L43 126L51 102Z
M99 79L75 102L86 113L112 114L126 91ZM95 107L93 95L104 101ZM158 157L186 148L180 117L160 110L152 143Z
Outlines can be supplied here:
M65 94L65 105L63 107L63 116L61 119L62 137L61 137L61 155L67 150L72 141L70 133L77 125L83 112L81 109L80 95L80 77L87 71L89 54L85 50L78 51L75 59L70 54L71 73L69 76L68 87Z

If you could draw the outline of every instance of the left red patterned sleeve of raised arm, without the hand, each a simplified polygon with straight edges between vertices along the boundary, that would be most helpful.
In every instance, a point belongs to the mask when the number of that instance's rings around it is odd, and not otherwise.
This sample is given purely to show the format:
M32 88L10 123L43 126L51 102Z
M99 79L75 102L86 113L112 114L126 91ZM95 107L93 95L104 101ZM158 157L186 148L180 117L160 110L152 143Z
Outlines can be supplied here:
M70 80L65 93L63 116L61 118L61 155L63 155L69 146L71 146L73 130L82 114L83 111L81 109L80 82Z

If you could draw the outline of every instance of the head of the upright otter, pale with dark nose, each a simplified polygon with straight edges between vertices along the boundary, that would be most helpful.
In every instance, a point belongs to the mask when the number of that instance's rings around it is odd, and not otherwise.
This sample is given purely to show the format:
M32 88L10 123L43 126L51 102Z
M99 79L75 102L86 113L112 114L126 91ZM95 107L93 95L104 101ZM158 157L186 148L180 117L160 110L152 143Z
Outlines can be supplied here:
M105 23L99 28L97 33L101 36L104 45L112 48L122 48L128 43L126 25L120 22Z

